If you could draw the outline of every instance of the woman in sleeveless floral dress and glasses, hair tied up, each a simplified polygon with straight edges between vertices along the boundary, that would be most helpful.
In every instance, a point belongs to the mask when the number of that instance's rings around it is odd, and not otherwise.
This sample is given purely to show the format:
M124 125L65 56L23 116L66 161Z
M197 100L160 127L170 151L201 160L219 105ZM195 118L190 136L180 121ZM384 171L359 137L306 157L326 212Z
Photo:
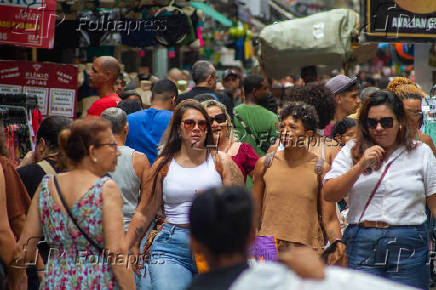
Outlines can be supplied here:
M85 118L59 138L72 170L46 175L41 182L19 241L17 263L35 257L43 235L50 255L40 289L134 289L133 273L126 267L123 200L118 186L105 176L115 169L119 155L111 125Z

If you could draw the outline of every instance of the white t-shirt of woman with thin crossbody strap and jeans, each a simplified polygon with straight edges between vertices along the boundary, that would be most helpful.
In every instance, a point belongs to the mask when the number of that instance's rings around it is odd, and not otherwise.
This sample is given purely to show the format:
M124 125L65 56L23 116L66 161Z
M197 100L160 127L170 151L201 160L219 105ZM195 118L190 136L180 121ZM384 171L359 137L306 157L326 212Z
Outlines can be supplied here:
M383 221L391 225L420 225L427 219L426 197L436 193L436 159L430 147L419 141L416 148L405 151L388 169L377 192L365 212L363 221ZM351 149L354 141L348 142L333 161L324 182L348 172L353 167ZM386 165L402 151L397 148L378 171L361 174L354 183L349 197L348 223L356 224L364 206Z

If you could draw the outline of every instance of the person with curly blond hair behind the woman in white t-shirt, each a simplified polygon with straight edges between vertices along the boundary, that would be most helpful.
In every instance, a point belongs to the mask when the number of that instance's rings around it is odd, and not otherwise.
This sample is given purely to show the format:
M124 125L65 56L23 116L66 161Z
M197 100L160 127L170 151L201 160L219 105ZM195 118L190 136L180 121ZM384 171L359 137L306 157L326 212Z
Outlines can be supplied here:
M419 88L416 83L408 78L394 78L388 85L388 90L399 96L404 103L404 109L409 117L411 129L416 132L415 138L427 144L433 154L436 156L436 148L431 137L421 132L423 123L422 115L422 99L425 98L425 93Z

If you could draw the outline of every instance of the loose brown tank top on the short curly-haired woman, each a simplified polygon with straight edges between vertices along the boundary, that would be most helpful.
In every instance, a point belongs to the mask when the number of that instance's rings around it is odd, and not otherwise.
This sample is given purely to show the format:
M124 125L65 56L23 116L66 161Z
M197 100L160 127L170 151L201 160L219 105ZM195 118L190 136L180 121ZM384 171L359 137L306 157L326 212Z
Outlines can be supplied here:
M288 164L284 151L275 154L264 175L265 192L260 236L302 243L319 250L324 245L318 221L318 156L309 153L299 164Z

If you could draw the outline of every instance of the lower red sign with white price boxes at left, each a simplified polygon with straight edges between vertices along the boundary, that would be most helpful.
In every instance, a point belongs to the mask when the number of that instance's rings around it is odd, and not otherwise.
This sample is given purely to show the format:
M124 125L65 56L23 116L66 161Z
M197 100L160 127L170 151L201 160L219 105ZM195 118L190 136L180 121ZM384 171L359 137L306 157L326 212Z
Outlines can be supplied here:
M0 93L36 95L44 116L73 118L76 113L77 68L65 64L0 60Z

